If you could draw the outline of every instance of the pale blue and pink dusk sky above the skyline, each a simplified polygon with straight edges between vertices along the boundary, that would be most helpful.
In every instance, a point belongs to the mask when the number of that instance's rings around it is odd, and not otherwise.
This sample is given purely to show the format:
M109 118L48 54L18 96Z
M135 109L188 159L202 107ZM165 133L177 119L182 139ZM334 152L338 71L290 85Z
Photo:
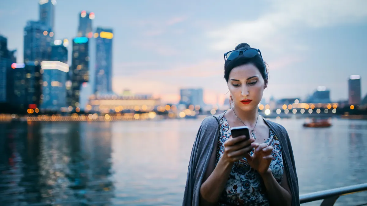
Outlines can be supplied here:
M367 93L366 8L366 0L57 0L54 33L75 37L82 10L95 13L93 27L112 28L116 93L177 103L180 88L203 88L204 102L222 104L223 54L246 42L269 65L265 99L305 99L325 86L336 102L348 99L350 75ZM18 62L26 22L38 12L38 0L0 1L0 34Z

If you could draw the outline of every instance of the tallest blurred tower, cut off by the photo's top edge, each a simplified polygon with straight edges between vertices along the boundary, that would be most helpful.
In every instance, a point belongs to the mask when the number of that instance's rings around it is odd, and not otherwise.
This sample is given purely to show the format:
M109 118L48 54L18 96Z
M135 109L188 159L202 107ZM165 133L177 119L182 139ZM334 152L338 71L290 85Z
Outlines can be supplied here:
M49 27L52 32L55 23L55 5L56 0L40 0L40 22Z

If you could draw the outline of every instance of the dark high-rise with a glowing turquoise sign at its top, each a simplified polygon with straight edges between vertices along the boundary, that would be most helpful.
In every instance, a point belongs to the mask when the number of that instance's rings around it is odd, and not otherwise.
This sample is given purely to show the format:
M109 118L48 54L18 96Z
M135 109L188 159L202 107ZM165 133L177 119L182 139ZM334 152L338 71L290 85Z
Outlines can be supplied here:
M72 66L71 66L71 89L68 92L68 105L79 107L81 86L89 80L89 39L76 37L73 39ZM85 84L84 84L85 85Z

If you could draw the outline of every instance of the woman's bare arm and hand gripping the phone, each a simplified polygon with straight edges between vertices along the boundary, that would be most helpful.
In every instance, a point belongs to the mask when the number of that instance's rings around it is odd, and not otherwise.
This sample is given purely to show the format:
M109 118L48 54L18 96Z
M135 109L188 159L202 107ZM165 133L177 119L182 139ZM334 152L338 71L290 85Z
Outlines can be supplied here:
M228 139L224 143L224 154L219 159L217 166L215 166L217 150L213 148L210 162L200 187L200 205L215 205L218 202L227 184L234 162L243 158L244 154L250 152L252 147L254 147L253 139L243 141L244 139L246 139L245 136Z

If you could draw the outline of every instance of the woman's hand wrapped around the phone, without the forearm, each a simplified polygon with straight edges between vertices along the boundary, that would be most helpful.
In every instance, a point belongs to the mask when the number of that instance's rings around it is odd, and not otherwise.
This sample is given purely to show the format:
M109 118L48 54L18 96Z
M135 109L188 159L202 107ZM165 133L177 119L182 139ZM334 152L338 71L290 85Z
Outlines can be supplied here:
M258 143L254 143L254 139L250 138L246 140L245 135L241 135L235 138L229 138L224 142L224 154L223 157L229 163L239 161L248 154L252 148L258 146Z

